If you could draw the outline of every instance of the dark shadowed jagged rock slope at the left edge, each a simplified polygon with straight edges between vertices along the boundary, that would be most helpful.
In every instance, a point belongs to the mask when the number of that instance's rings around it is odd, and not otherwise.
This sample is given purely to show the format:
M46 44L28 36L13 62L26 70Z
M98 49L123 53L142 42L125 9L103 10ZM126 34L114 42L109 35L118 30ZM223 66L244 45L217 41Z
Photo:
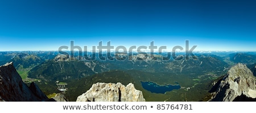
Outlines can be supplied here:
M48 98L35 83L28 87L10 62L0 66L0 101L48 101Z

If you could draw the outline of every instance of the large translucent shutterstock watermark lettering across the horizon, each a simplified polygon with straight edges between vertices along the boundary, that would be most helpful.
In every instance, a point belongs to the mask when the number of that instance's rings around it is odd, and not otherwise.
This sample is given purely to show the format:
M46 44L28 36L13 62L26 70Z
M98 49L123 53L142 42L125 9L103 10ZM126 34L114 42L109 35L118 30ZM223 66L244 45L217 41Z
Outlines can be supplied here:
M96 49L97 47L97 49ZM180 45L176 45L172 48L172 52L164 52L167 49L167 46L158 46L154 45L154 41L150 42L150 45L145 46L131 46L126 48L125 46L119 45L118 47L114 47L111 45L111 41L108 41L106 45L102 45L102 41L98 43L97 46L92 46L92 51L88 51L88 46L82 47L75 45L74 41L70 41L70 51L67 45L63 45L59 47L59 53L64 55L69 55L70 60L198 60L197 57L193 54L194 49L197 45L193 45L189 49L189 40L185 40L185 51L184 48ZM148 50L149 51L146 51ZM158 51L154 51L158 49ZM78 50L78 55L75 55L75 50ZM144 50L144 51L143 51ZM184 51L183 55L177 55L177 51Z

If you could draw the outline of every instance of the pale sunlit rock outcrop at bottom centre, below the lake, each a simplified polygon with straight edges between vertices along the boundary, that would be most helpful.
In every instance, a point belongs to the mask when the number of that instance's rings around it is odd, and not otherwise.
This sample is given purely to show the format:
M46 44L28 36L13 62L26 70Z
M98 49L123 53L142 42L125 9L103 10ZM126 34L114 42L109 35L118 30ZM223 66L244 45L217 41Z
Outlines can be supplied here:
M86 93L77 97L77 102L144 102L142 91L133 83L94 83Z

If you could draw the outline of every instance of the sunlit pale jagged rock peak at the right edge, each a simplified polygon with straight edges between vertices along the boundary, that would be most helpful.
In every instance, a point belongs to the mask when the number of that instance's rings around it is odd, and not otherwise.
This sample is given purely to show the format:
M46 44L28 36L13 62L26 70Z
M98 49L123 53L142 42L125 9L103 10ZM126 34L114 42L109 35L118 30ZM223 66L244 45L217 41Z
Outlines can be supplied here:
M210 101L256 101L256 77L244 64L233 66L213 87Z

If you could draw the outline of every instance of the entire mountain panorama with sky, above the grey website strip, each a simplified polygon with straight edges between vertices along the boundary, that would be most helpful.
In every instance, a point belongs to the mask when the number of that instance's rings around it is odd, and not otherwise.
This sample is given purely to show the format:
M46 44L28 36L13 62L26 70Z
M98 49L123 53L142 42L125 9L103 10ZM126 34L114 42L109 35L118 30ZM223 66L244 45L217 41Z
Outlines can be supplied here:
M0 1L0 101L256 101L255 5Z

